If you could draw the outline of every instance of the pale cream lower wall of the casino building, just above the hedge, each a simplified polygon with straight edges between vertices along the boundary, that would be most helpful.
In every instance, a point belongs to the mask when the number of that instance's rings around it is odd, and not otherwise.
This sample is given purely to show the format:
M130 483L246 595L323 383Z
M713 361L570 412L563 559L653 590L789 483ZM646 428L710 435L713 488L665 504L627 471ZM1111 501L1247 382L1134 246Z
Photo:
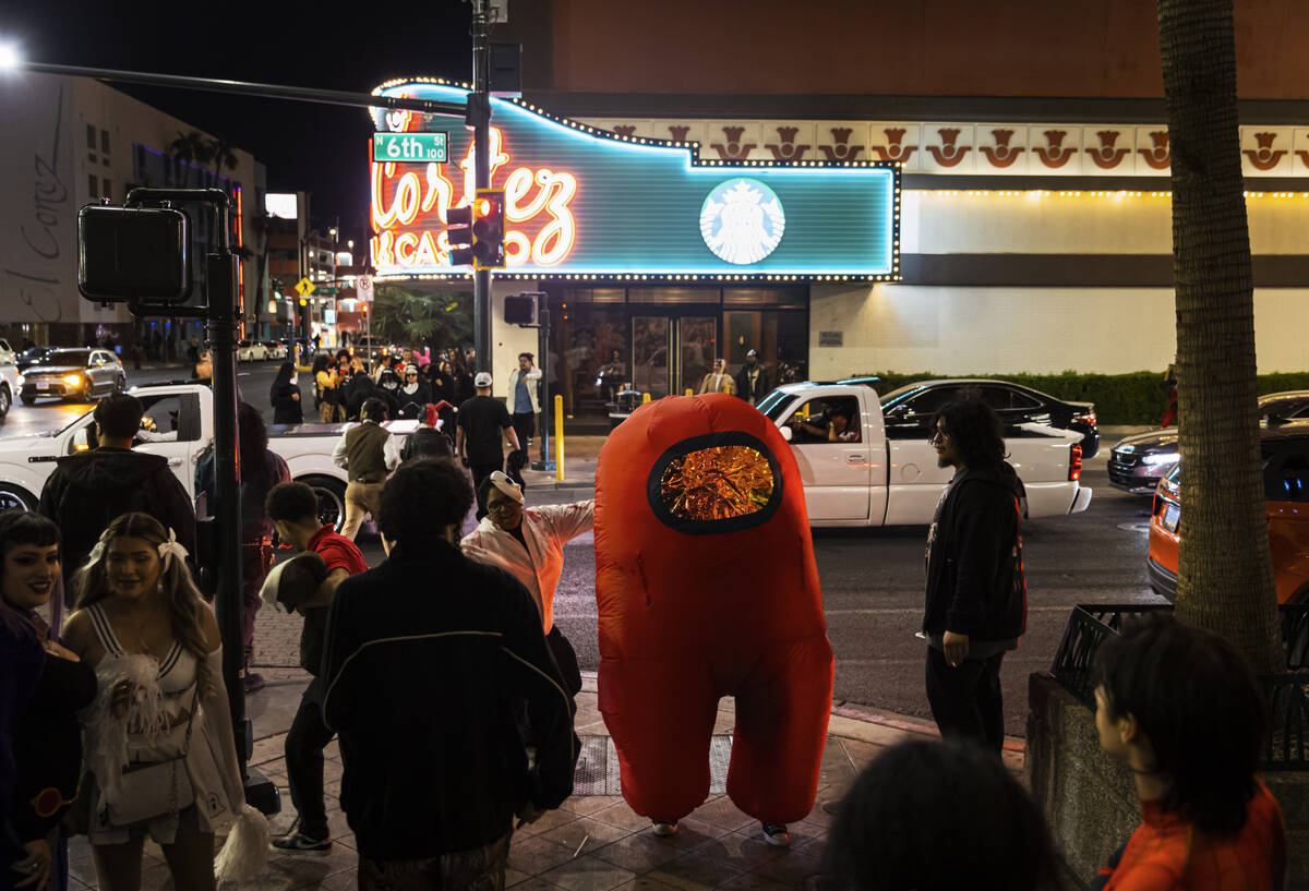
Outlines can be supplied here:
M1309 289L1255 290L1261 373L1309 369L1306 301ZM843 345L821 347L823 331L843 331ZM867 372L1162 372L1175 345L1173 292L1165 288L810 289L814 379Z

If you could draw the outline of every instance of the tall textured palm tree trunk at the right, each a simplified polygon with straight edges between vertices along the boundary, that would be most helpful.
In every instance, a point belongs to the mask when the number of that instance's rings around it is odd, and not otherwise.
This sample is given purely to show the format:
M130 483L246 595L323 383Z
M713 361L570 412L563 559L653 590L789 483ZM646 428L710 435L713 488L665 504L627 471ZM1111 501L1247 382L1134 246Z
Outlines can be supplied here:
M1158 0L1173 152L1182 522L1177 616L1284 670L1259 461L1232 0Z

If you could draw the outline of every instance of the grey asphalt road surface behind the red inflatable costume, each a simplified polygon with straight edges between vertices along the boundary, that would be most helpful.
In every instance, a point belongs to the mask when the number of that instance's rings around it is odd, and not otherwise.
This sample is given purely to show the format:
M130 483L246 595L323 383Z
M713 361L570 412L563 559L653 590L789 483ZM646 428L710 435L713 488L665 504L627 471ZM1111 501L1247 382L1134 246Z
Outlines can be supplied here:
M242 395L271 417L268 386L278 362L242 364ZM183 369L128 372L130 385L186 377ZM308 377L308 376L305 376ZM306 406L312 389L302 383ZM60 428L90 406L14 406L0 437ZM1153 603L1145 574L1148 498L1109 487L1105 455L1086 462L1083 481L1096 495L1090 509L1024 527L1028 569L1028 633L1004 662L1005 729L1025 735L1028 675L1046 670L1077 603ZM584 491L528 492L529 504L589 497ZM473 518L469 518L471 529ZM827 635L836 657L838 701L927 717L923 692L925 644L915 636L922 619L924 527L816 530L814 553L823 589ZM376 535L360 546L370 565L382 559ZM555 621L577 650L584 670L598 663L594 550L590 534L565 548L564 574L555 598ZM257 631L257 662L295 666L300 619L263 610Z

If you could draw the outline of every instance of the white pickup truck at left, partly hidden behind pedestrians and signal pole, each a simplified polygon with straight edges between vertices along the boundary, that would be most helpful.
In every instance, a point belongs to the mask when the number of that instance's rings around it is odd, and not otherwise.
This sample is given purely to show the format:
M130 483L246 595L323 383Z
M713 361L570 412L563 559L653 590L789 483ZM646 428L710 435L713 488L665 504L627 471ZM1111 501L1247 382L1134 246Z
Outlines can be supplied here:
M191 497L195 464L213 441L213 394L199 383L166 383L132 387L145 406L141 433L134 446L168 458L169 466ZM89 447L92 412L62 430L0 440L0 509L34 509L55 459ZM346 471L331 463L331 453L348 424L274 425L268 447L291 468L291 476L318 492L319 518L339 526L346 515ZM414 432L418 421L387 421L397 434Z

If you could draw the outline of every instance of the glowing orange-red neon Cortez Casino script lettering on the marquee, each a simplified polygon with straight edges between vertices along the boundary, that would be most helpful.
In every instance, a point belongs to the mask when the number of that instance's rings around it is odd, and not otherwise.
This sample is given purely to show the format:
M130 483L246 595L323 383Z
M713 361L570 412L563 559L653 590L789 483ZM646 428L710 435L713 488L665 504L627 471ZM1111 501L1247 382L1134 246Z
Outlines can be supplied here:
M490 143L492 187L496 173L508 171L500 183L505 192L505 264L562 263L572 253L577 234L571 208L577 178L546 167L513 167L499 127L491 128ZM476 191L473 145L458 162L458 171L449 171L449 166L428 164L419 170L415 165L372 165L376 234L370 253L380 272L450 266L446 212L473 201ZM462 179L458 190L456 177Z

